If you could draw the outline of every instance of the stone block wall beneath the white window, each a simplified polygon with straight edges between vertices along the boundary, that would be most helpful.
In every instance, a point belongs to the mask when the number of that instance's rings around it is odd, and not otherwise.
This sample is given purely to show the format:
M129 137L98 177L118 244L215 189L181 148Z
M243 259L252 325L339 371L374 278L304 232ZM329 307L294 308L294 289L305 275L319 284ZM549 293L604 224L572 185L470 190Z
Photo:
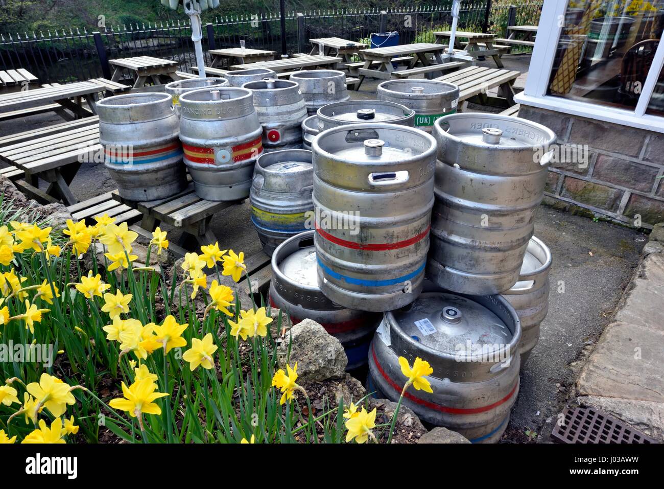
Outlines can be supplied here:
M521 105L519 117L544 124L558 144L588 145L588 164L558 159L546 196L643 227L664 221L664 134ZM564 151L560 151L564 153Z

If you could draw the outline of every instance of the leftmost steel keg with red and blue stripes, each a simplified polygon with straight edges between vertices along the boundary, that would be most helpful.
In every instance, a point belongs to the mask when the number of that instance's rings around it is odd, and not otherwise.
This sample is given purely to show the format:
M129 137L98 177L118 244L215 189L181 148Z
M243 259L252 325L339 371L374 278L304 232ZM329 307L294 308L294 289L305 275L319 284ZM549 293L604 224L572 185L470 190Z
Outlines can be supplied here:
M104 165L124 199L153 201L187 186L179 120L165 93L124 94L96 104Z

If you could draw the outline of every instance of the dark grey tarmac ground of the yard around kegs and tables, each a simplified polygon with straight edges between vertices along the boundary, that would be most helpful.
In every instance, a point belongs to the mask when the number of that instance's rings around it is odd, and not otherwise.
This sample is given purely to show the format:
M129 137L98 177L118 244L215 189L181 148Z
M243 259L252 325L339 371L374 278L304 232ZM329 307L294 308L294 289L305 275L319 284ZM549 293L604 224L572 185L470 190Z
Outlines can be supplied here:
M503 57L505 68L521 72L527 72L529 61L527 55ZM493 60L478 64L495 67ZM517 80L517 88L523 88L524 79ZM359 92L351 92L352 98L375 98L378 82L365 80ZM480 109L487 111L481 106L469 106L469 110ZM58 122L62 120L54 115L4 122L0 124L0 136ZM80 200L114 188L104 165L94 163L85 163L71 185ZM212 231L223 248L252 254L260 245L250 225L249 205L231 209L214 216ZM553 254L549 312L542 324L540 341L521 372L521 391L505 435L505 440L511 441L525 440L527 429L539 433L540 441L548 441L555 415L566 403L584 352L608 324L645 243L643 235L631 229L548 207L540 207L535 233ZM175 239L177 233L170 234ZM562 293L557 292L560 281L564 282Z

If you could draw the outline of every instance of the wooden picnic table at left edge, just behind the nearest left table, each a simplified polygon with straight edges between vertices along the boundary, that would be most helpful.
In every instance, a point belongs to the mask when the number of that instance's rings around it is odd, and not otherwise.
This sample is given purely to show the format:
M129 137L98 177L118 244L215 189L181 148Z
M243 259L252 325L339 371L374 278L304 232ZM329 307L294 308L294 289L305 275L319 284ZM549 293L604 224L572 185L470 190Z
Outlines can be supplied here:
M97 82L87 81L0 94L0 120L47 110L53 110L65 119L70 118L63 109L70 110L74 118L92 116L96 114L94 104L97 94L103 90L104 88ZM82 106L83 98L88 102L89 110ZM42 108L44 110L41 110Z

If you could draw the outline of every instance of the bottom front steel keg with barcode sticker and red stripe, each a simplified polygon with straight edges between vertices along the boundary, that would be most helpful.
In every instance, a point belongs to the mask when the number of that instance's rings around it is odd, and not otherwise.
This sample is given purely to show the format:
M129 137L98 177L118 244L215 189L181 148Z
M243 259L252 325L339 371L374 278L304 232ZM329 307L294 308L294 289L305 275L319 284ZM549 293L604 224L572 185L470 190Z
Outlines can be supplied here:
M433 393L409 387L403 403L420 419L471 442L497 442L519 393L521 325L501 296L425 292L386 312L369 351L372 385L398 400L408 380L398 357L416 357L434 370Z

